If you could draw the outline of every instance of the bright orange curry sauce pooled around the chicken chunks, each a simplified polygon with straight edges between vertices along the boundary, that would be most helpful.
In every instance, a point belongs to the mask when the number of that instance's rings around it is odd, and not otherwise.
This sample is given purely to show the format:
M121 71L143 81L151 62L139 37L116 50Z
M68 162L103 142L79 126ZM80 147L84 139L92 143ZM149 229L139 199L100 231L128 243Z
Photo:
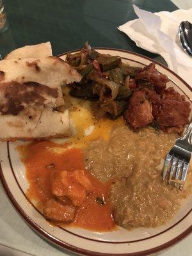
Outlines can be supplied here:
M47 200L54 198L51 193L51 176L57 172L84 170L92 182L95 191L87 195L83 205L77 208L76 218L68 225L86 228L95 231L109 231L115 227L111 214L111 205L108 200L110 183L102 183L85 170L83 152L79 148L67 148L68 144L60 145L51 141L35 141L19 147L22 161L26 166L26 178L29 182L27 196L31 202L35 202L42 212ZM61 152L55 152L52 148L60 148ZM65 150L66 149L66 150ZM54 164L54 170L47 168ZM100 204L99 198L106 204ZM63 223L56 223L63 225ZM66 223L65 223L66 226Z

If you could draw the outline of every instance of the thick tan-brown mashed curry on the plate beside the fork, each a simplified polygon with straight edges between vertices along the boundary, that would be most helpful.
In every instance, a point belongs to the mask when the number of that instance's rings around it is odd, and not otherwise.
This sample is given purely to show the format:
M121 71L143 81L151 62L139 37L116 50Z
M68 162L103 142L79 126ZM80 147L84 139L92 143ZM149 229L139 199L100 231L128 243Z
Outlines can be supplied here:
M134 132L121 126L113 129L108 141L90 143L85 152L87 168L101 181L113 180L110 199L118 225L162 225L191 193L191 170L182 191L161 177L163 159L176 138L152 127Z

